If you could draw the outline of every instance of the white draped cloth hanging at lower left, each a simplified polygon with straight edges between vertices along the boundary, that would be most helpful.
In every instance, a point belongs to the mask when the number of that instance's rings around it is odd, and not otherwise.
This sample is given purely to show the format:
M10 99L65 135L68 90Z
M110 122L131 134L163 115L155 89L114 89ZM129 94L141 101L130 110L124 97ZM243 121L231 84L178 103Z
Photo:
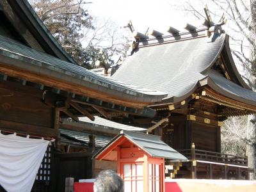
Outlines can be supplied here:
M49 142L0 133L0 184L6 191L31 191Z

